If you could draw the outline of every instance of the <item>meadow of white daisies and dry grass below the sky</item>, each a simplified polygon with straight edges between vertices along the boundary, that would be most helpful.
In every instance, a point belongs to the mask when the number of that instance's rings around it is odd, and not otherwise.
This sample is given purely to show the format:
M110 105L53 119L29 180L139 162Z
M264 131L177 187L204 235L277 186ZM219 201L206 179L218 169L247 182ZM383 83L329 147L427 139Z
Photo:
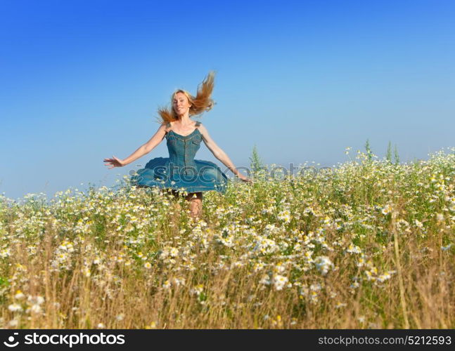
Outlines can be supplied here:
M183 199L0 198L2 328L455 328L455 149ZM183 209L182 209L183 208Z

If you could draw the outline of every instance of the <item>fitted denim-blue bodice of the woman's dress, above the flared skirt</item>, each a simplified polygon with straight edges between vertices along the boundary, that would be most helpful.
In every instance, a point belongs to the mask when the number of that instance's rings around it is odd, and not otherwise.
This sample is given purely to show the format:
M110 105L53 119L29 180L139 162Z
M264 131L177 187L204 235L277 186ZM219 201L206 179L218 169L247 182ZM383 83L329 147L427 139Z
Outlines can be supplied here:
M194 157L200 148L202 135L200 134L200 122L196 122L196 129L188 135L180 135L174 131L166 133L167 150L169 151L169 163L172 166L184 167L185 169L195 167ZM187 173L187 171L185 171Z

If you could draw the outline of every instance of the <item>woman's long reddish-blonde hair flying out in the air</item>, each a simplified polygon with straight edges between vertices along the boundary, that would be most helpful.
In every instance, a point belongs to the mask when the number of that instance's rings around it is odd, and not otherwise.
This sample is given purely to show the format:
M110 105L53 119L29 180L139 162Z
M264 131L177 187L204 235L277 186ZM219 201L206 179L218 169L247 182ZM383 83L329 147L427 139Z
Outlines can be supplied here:
M188 101L191 104L189 111L190 116L202 114L205 111L212 110L215 102L210 96L212 95L214 86L214 75L215 74L213 71L207 74L207 77L205 77L203 82L198 86L198 93L196 94L196 97L183 89L174 91L174 93L171 95L171 107L161 107L158 109L158 114L160 114L161 117L158 118L160 124L167 124L168 122L177 121L177 119L179 119L179 116L174 111L174 107L172 107L174 96L177 93L184 93L186 95L186 98L188 98Z

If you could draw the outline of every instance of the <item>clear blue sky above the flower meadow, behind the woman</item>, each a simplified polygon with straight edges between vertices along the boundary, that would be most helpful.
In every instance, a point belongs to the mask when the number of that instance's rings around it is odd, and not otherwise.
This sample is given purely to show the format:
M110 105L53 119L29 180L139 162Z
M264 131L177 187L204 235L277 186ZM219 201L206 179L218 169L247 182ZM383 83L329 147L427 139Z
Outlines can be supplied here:
M0 193L115 185L176 88L236 166L455 146L455 1L0 1ZM216 162L205 146L196 159ZM229 176L232 175L229 171ZM80 185L84 183L84 185Z

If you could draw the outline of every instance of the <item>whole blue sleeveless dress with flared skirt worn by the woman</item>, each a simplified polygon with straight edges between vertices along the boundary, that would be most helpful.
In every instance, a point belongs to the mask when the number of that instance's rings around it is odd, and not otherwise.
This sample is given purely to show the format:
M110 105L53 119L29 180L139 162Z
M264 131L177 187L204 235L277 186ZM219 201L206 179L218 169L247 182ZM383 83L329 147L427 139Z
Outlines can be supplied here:
M226 192L226 174L213 162L194 159L203 140L199 126L198 121L196 129L185 136L174 131L166 133L169 157L150 159L145 168L139 169L132 176L132 185L174 190L183 188L188 193L210 190Z

